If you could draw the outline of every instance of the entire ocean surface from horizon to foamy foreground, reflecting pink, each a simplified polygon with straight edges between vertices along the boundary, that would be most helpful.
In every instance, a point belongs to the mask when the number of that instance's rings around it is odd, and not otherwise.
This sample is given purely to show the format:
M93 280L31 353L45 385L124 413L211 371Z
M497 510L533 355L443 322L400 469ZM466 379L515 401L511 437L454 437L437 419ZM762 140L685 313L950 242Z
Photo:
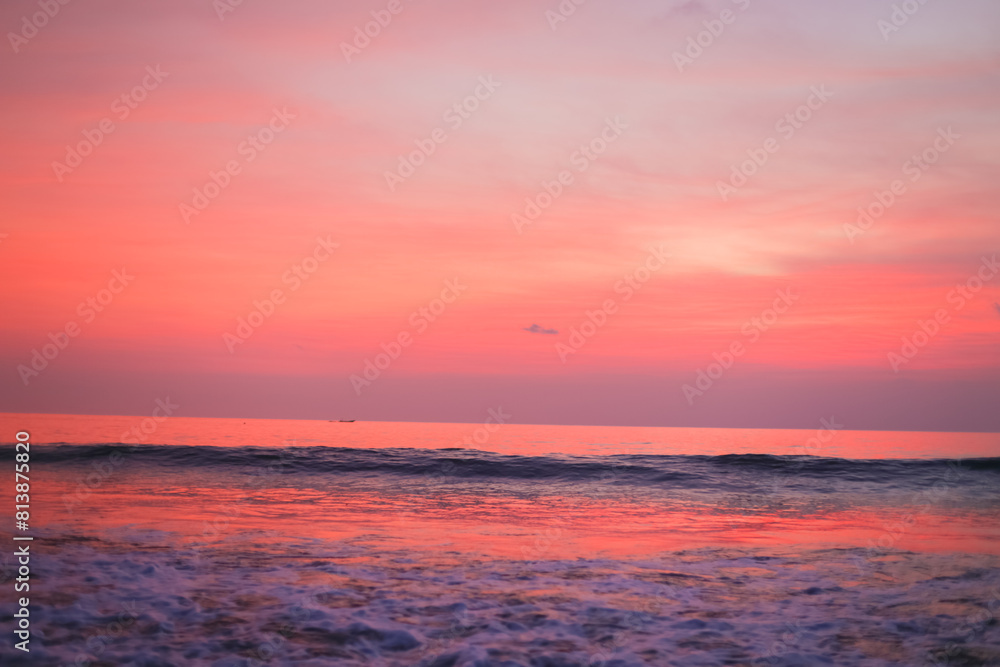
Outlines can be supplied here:
M498 421L0 415L0 664L1000 666L998 434Z

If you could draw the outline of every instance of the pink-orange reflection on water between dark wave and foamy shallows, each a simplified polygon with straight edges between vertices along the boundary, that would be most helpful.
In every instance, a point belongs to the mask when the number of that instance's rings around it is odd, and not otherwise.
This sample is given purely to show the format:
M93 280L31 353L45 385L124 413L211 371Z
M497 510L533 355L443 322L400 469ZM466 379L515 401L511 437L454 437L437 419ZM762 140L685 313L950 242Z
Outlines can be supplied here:
M459 552L523 560L642 558L703 547L865 548L873 555L1000 553L1000 531L977 513L830 507L807 511L706 507L683 502L530 499L372 493L350 489L151 486L127 478L68 511L78 473L52 470L36 486L37 525L92 537L162 531L182 543L247 540L280 549L301 538L351 541L413 553Z

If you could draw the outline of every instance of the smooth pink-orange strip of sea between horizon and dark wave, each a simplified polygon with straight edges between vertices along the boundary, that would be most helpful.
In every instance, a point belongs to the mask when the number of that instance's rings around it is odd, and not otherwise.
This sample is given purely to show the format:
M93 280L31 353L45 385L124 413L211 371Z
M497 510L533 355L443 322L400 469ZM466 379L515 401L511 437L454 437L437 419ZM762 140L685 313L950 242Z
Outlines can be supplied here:
M824 417L827 423L835 420ZM31 431L39 444L122 442L123 435L151 422L147 417L101 415L18 415L0 413L3 436ZM653 428L631 426L551 426L504 424L479 433L481 424L416 422L328 422L283 419L200 419L170 417L142 435L143 444L213 447L330 446L383 449L464 447L500 454L775 454L878 458L978 458L1000 456L1000 433L932 433L833 429ZM141 432L141 428L140 428ZM10 435L7 435L10 434ZM822 437L818 437L822 435ZM134 436L126 442L134 443ZM816 438L815 442L812 439Z

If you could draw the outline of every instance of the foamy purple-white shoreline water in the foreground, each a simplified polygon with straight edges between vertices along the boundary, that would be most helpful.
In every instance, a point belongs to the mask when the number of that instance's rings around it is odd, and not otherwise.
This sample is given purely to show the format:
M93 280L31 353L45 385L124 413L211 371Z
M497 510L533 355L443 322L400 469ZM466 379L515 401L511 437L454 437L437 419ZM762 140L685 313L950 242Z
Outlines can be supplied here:
M896 553L864 568L859 558L701 549L518 561L343 543L54 539L38 565L37 648L30 660L6 646L0 655L10 665L214 667L1000 660L996 557Z

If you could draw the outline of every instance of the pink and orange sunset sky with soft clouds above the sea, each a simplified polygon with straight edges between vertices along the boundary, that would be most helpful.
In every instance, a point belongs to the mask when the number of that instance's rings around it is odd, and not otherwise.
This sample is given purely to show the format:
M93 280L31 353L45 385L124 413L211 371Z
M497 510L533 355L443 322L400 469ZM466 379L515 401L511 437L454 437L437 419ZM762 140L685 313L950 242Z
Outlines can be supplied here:
M4 411L1000 430L993 0L51 5Z

